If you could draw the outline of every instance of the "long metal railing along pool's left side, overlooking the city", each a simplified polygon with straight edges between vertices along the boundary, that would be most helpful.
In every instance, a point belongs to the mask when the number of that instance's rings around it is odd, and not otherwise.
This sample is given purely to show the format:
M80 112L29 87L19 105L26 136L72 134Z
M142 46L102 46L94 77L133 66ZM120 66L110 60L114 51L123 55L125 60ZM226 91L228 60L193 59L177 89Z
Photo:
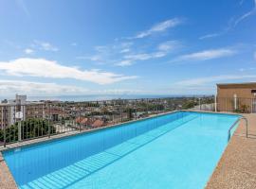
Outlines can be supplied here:
M211 101L211 96L200 101ZM196 106L198 97L0 104L0 146L65 132L108 127Z

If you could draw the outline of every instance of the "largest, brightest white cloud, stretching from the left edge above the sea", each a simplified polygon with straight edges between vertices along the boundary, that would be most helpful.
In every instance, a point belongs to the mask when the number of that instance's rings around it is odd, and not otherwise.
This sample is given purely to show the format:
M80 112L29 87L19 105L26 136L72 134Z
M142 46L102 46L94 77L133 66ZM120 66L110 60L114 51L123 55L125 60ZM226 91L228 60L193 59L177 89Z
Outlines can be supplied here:
M121 80L136 78L136 76L126 77L100 70L81 70L75 67L61 65L53 60L29 58L4 62L0 61L0 70L5 71L9 76L73 78L99 84L110 84Z

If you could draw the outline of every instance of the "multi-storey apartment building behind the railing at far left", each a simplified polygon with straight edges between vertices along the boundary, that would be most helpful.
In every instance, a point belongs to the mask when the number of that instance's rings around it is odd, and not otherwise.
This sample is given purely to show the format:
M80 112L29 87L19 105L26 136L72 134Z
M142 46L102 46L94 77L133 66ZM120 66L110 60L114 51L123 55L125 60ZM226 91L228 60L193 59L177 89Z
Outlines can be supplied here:
M5 99L0 103L0 128L13 125L27 118L44 118L45 104L27 101L27 95L16 94L15 99Z

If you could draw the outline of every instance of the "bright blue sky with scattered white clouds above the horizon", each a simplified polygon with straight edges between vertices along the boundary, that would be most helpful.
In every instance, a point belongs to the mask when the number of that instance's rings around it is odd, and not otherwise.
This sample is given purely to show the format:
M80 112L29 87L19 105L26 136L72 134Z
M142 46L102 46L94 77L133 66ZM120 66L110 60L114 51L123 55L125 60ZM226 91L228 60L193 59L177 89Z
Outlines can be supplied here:
M256 0L0 2L0 95L214 94L256 81Z

